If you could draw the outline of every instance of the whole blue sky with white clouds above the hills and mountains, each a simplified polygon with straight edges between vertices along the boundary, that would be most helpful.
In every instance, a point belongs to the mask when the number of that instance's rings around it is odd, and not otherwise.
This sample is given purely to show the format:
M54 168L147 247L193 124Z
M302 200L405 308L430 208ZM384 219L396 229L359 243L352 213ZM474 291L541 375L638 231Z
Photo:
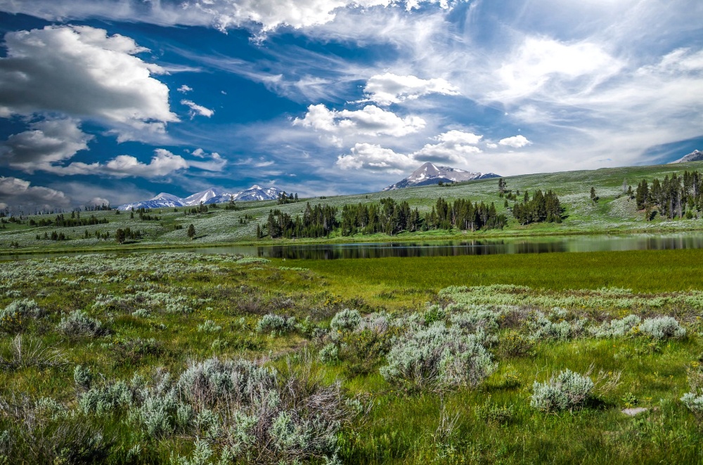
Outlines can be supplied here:
M0 0L0 208L703 148L700 0Z

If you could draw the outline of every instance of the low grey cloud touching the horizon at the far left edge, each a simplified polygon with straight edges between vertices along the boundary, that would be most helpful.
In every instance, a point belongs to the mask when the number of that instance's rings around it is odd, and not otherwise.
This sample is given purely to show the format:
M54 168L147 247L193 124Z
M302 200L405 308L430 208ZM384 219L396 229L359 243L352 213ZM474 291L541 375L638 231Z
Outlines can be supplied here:
M52 209L70 206L60 190L31 185L20 178L0 176L0 208Z

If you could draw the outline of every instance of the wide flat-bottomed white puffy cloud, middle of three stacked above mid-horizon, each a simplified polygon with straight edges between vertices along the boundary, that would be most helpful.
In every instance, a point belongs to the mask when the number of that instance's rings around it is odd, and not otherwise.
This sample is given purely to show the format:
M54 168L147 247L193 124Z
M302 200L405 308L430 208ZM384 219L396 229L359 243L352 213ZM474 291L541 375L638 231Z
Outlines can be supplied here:
M328 110L323 104L310 105L305 117L293 120L300 125L335 136L340 142L344 136L406 136L425 127L425 120L417 116L399 117L394 112L375 105L361 110Z

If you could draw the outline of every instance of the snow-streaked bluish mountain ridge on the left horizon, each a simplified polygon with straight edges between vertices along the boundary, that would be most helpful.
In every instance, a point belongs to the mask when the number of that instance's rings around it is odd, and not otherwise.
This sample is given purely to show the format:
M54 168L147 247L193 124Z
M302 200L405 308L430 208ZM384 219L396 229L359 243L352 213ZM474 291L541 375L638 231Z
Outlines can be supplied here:
M193 207L204 204L221 204L229 202L231 197L237 202L248 202L252 200L275 200L283 192L278 188L263 188L258 184L245 190L222 190L218 188L209 188L202 192L195 192L193 195L188 195L186 198L178 197L177 195L161 192L156 197L148 200L141 200L131 204L124 204L117 207L118 210L131 209L158 209L165 207Z

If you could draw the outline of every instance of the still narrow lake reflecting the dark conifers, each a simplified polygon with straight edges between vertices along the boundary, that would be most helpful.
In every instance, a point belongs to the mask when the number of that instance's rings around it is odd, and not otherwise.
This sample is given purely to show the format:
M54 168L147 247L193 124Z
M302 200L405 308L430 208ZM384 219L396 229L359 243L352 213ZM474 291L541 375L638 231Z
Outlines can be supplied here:
M522 237L465 241L377 242L358 244L286 244L265 246L183 247L149 249L135 253L195 252L198 254L243 254L265 258L333 260L338 258L384 258L494 254L547 254L613 250L703 249L703 232L666 235L584 235ZM4 255L0 260L47 258L70 254Z

